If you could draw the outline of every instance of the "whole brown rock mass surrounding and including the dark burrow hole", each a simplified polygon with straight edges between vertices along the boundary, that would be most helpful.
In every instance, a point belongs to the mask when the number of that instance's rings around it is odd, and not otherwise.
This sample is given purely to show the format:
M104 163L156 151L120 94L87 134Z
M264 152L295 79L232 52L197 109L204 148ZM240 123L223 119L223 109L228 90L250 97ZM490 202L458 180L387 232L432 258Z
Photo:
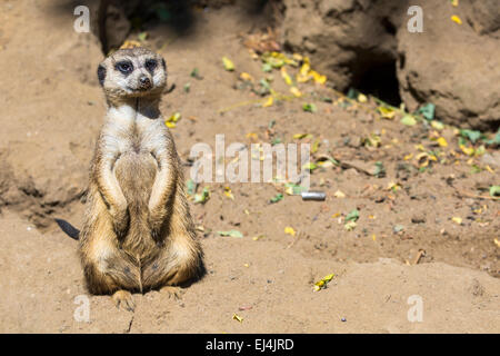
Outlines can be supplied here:
M308 53L336 89L354 87L409 110L496 130L500 123L498 0L421 0L423 32L409 32L409 1L282 0L283 47ZM456 14L462 20L451 20Z

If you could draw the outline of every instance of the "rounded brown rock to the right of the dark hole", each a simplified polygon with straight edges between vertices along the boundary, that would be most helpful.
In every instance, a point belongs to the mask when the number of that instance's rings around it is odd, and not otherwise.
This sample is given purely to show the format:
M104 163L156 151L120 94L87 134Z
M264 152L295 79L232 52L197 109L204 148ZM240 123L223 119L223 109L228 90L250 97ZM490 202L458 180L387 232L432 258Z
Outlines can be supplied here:
M498 1L493 2L491 12L498 16ZM436 118L443 122L493 130L500 122L499 39L474 31L464 20L468 7L431 0L421 3L423 33L398 32L401 98L410 110L434 103ZM463 23L451 21L453 14Z

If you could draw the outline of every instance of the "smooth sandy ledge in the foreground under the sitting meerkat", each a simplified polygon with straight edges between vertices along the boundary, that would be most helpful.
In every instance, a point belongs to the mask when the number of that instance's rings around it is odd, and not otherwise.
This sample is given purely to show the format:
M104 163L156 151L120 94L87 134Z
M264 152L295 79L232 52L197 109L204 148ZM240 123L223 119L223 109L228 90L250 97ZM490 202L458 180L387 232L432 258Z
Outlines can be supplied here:
M0 224L0 333L500 332L500 281L483 273L342 264L249 237L203 240L208 274L181 300L136 294L134 313L118 310L110 297L86 297L76 241L10 214ZM328 288L313 291L329 274Z

